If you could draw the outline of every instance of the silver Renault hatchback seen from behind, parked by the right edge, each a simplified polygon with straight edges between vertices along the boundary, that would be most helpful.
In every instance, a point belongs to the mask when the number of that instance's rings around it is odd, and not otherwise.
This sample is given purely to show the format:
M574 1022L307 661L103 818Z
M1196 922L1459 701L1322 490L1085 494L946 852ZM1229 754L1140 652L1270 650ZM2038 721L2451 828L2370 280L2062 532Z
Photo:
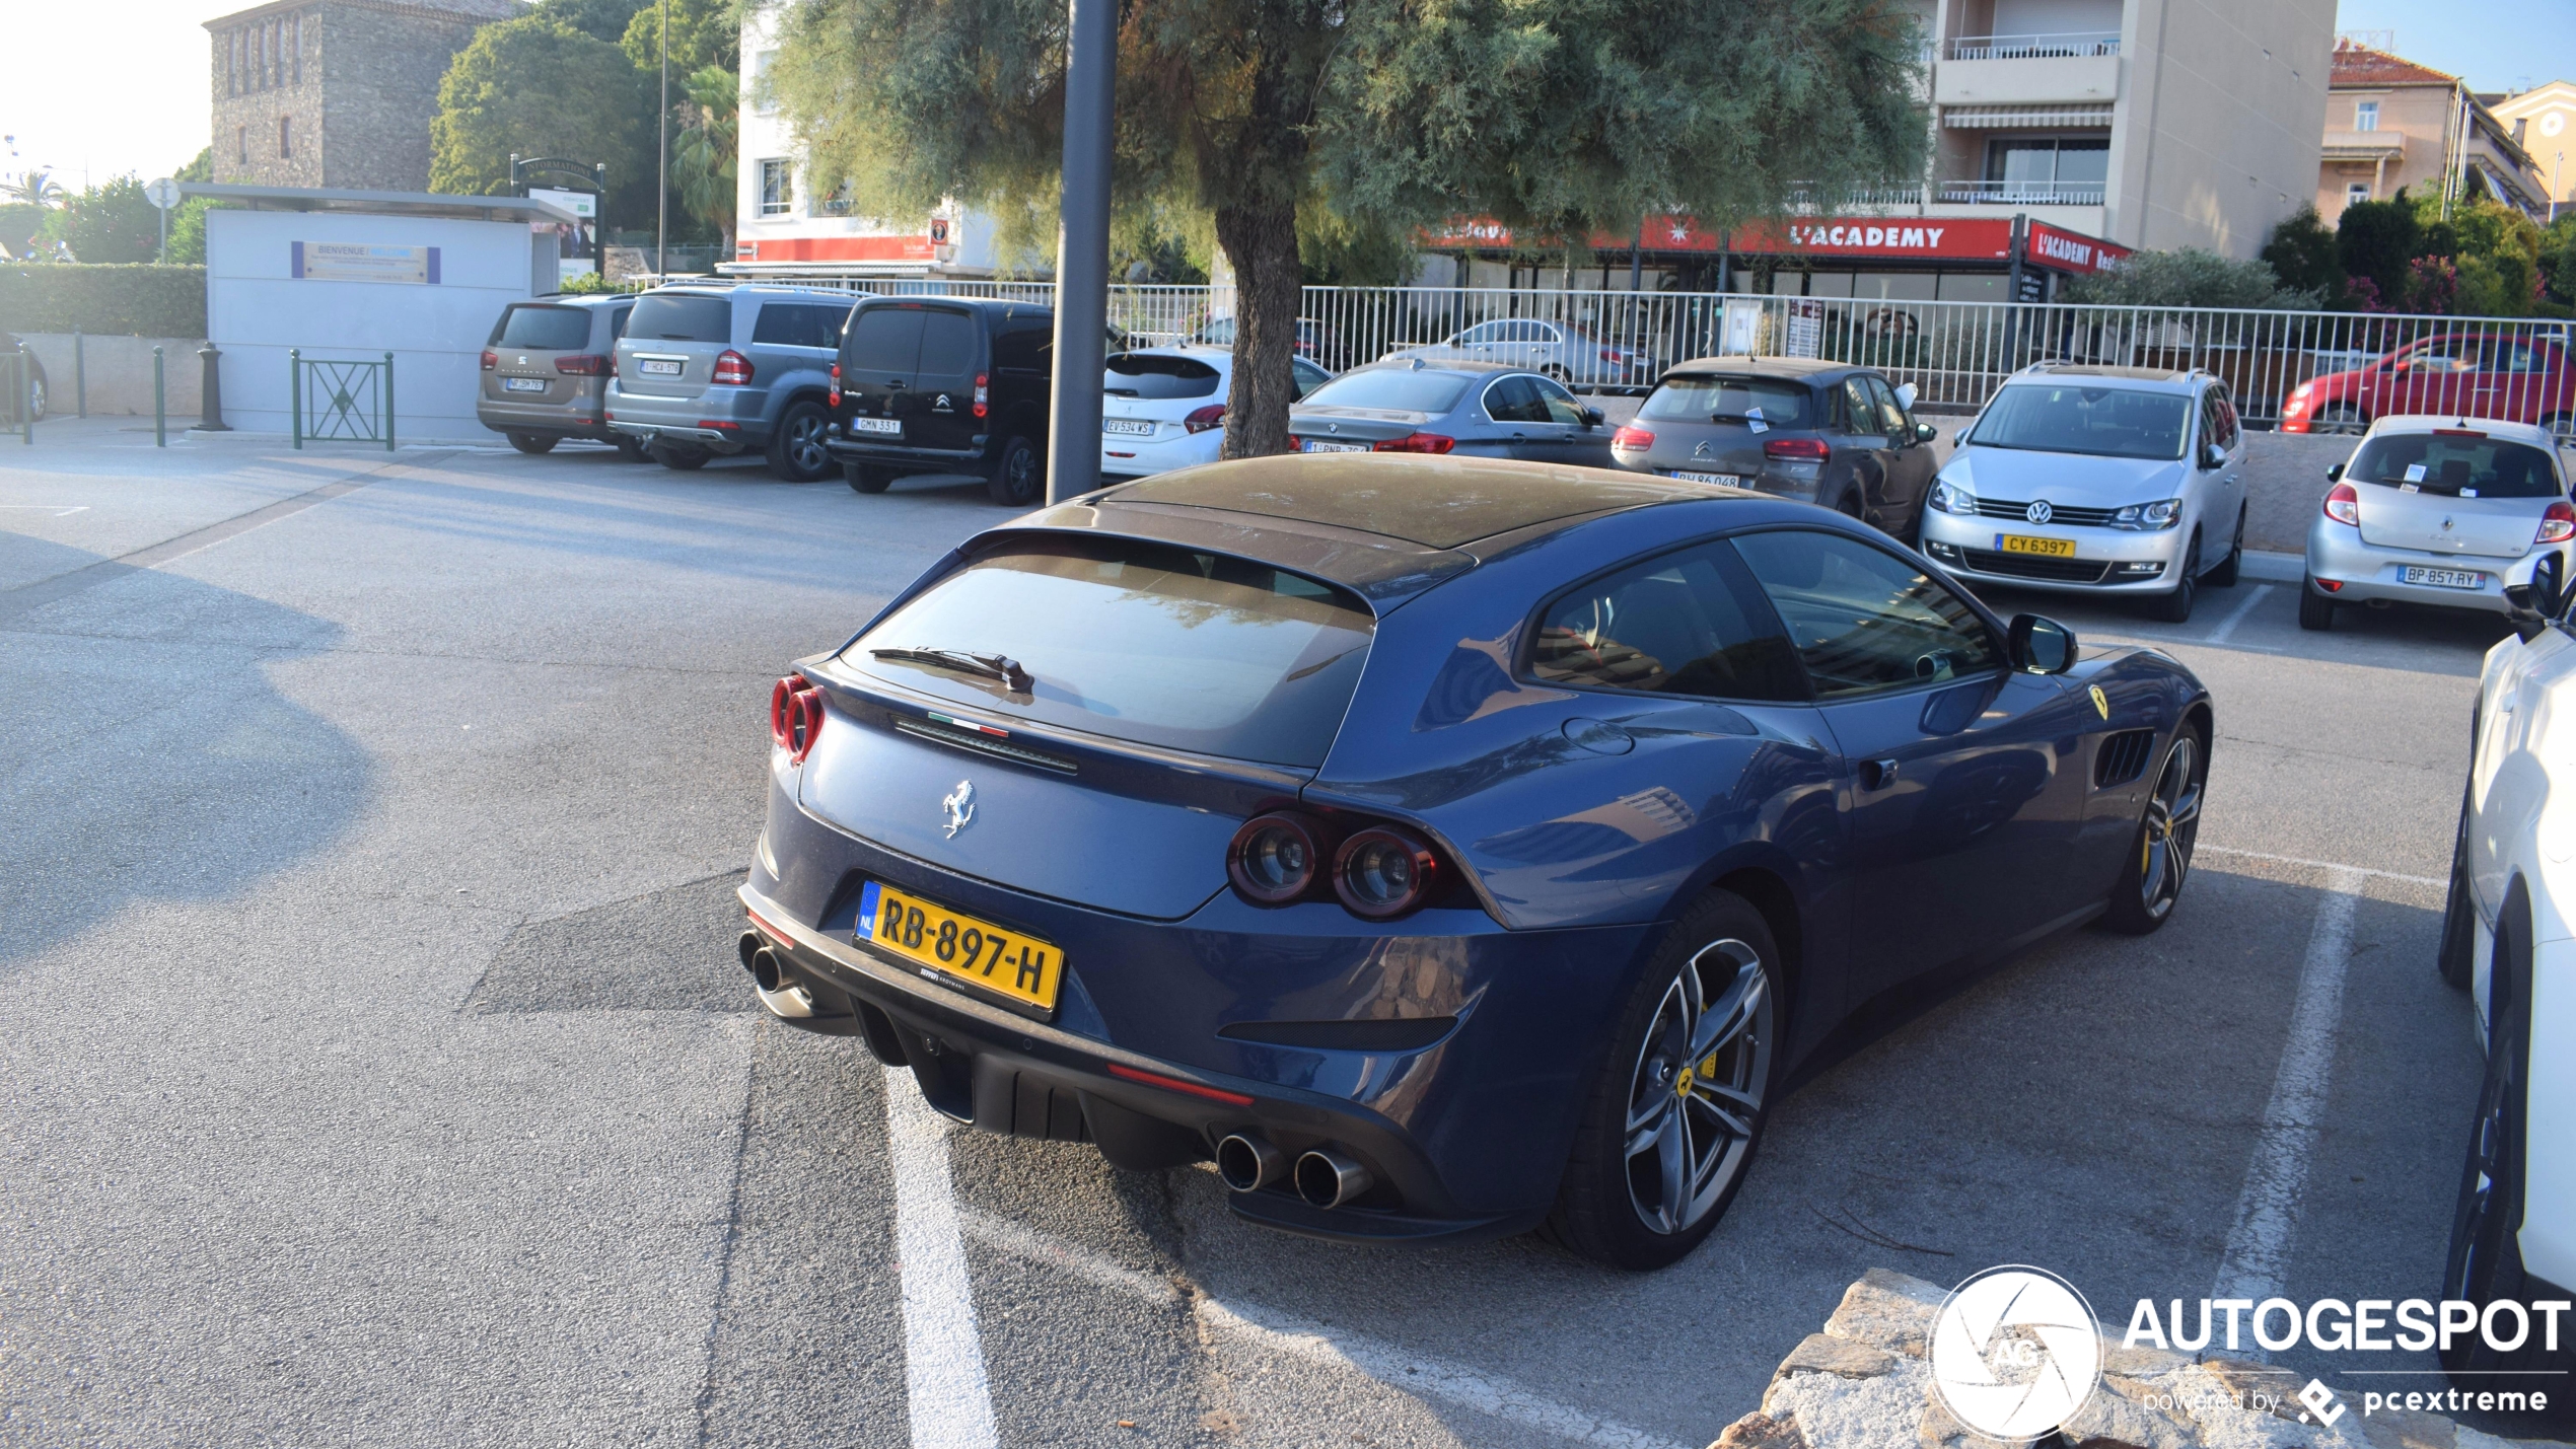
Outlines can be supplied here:
M2383 417L2326 479L2300 628L2334 628L2339 602L2506 613L2504 587L2576 538L2558 440L2530 422Z

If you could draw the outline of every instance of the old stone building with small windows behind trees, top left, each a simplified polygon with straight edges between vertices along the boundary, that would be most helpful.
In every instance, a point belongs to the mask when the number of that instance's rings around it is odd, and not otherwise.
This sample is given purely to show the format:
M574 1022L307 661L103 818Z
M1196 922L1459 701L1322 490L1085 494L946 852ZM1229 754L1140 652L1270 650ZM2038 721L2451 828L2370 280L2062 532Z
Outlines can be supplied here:
M520 0L276 0L206 21L214 180L430 188L438 80Z

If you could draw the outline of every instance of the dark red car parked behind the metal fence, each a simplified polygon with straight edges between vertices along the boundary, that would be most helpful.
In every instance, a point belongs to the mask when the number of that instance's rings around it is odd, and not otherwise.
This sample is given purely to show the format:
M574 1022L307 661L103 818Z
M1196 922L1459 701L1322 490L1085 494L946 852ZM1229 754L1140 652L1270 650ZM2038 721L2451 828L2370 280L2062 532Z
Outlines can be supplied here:
M2566 337L2452 332L2388 353L2367 368L2298 383L2280 404L2282 432L2362 432L2393 414L2494 417L2576 430L2576 368Z

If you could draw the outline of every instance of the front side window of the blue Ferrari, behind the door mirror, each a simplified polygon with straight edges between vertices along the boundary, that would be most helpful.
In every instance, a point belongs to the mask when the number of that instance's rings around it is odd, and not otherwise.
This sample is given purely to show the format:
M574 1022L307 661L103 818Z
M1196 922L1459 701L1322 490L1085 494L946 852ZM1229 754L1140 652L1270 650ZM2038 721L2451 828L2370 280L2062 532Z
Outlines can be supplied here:
M1914 564L1839 533L1747 533L1736 551L1788 625L1816 697L1963 679L1996 667L1986 623Z

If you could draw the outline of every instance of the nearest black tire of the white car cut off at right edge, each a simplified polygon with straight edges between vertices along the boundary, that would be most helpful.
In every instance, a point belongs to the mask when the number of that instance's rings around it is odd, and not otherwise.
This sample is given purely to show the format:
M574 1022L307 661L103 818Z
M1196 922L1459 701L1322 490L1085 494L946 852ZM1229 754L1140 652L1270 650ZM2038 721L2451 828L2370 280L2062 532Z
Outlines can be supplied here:
M2460 1163L2460 1199L2450 1220L2450 1253L2442 1264L2442 1297L2481 1305L2522 1302L2524 1338L2514 1349L2491 1349L2483 1333L2463 1333L2439 1346L2442 1369L2463 1390L2494 1390L2491 1374L2532 1374L2576 1367L2576 1341L2561 1323L2558 1351L2548 1351L2540 1315L2532 1313L2535 1282L2522 1269L2522 1184L2527 1166L2527 1094L2532 1078L2530 1011L2530 924L2506 906L2496 919L2496 955L2486 983L2486 1078L2478 1084L2478 1114L2468 1127L2468 1153ZM2499 1323L2499 1331L2504 1325ZM2553 1418L2568 1410L2566 1395L2550 1395Z

